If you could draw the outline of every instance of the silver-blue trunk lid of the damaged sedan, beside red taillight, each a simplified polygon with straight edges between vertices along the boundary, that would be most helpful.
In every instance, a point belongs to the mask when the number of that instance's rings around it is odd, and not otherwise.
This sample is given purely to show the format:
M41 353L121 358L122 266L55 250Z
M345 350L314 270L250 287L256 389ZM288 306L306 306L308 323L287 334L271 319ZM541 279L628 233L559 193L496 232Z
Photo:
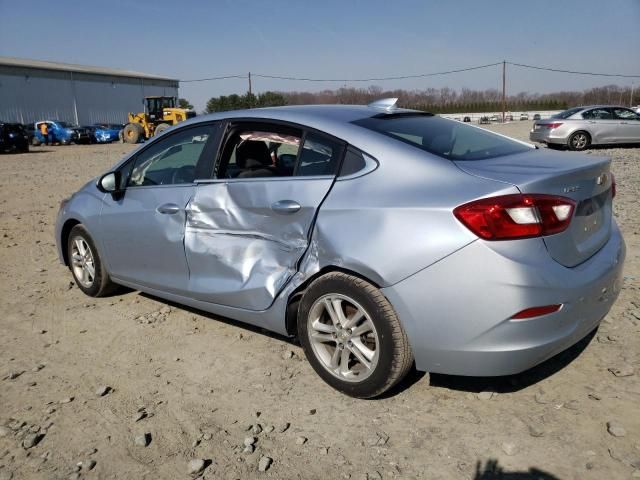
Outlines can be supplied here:
M522 193L544 193L576 202L569 228L543 237L551 256L574 267L602 248L611 234L611 161L606 157L547 149L489 160L458 161L463 171L516 186Z

